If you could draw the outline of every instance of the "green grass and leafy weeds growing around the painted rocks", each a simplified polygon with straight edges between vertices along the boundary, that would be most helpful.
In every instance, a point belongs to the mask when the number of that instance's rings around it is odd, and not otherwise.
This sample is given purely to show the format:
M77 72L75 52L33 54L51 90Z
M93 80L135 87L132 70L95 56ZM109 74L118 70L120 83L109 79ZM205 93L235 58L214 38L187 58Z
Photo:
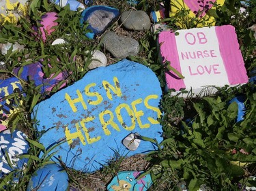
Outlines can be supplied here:
M121 12L130 7L126 1L119 0L100 0L97 3L98 5L111 5ZM158 8L158 3L160 1L142 0L139 1L137 9L150 13L151 10ZM216 12L211 14L218 16L216 25L232 24L236 27L248 77L253 77L255 73L253 74L252 71L256 67L256 43L253 32L248 27L255 24L256 2L251 1L247 8L247 17L238 13L239 7L240 1L226 0L223 7L217 7ZM46 43L43 43L40 39L35 40L35 37L29 33L31 33L32 26L40 26L38 22L40 16L50 11L58 13L59 24ZM84 33L88 31L87 24L81 28L80 14L80 12L70 12L68 7L61 8L47 1L30 1L29 15L26 18L22 18L17 25L5 23L0 27L0 43L18 41L19 44L25 46L25 50L20 52L9 50L8 54L0 54L0 60L8 63L6 69L0 71L0 75L12 76L14 74L11 71L14 67L44 59L42 65L46 77L52 73L57 75L61 71L72 71L68 77L68 85L81 79L87 73L91 60L89 54L85 52L101 50L101 48L100 37L93 40L85 37ZM231 16L234 17L231 18ZM160 22L165 22L169 28L176 30L180 29L175 25L177 21L183 22L188 29L196 27L198 22L205 22L203 19L188 18L184 10ZM120 29L115 22L111 30L118 32L123 29ZM66 35L67 33L70 35ZM165 91L164 74L167 65L162 65L158 59L157 34L152 34L150 31L126 31L126 33L137 39L141 48L138 56L130 56L128 59L150 67L160 81L163 90L161 107L164 115L159 121L162 124L165 140L157 143L159 149L156 152L145 156L145 162L147 162L145 166L137 163L136 157L129 162L137 165L131 165L126 160L126 156L122 156L115 150L113 150L113 157L108 161L109 165L96 173L81 173L68 169L65 164L61 163L68 172L70 185L81 190L96 190L96 188L104 190L104 186L118 171L135 169L144 170L145 173L152 175L154 186L150 190L178 190L181 182L185 182L189 190L198 190L202 184L212 190L239 190L238 182L242 186L255 185L255 182L249 179L250 175L256 174L255 86L248 83L235 88L218 88L216 94L201 98L177 97L173 95L173 90ZM68 44L64 47L53 48L51 41L60 37L66 39ZM106 55L110 64L119 60L111 58L107 52ZM76 60L73 60L74 56ZM48 67L48 60L51 68ZM51 162L48 153L52 148L46 150L42 144L38 143L40 135L34 128L36 121L29 118L33 107L44 100L46 95L40 94L40 87L35 87L33 82L22 82L22 86L26 97L20 97L20 94L10 95L19 112L10 119L9 128L18 128L29 136L31 150L29 150L29 155L23 156L29 158L29 162L25 170L13 171L1 179L0 190L26 190L33 171ZM51 94L56 91L57 88L54 88ZM236 122L238 107L236 103L229 105L228 102L240 94L246 96L246 115L242 122ZM186 124L188 118L193 121L192 127ZM145 140L154 142L146 137ZM240 152L231 154L231 150L241 148L248 152L248 155ZM44 156L39 158L41 151L44 152ZM142 159L139 158L139 160ZM245 162L246 165L234 165L231 161ZM124 164L129 164L130 167ZM16 185L12 183L14 176L20 178Z

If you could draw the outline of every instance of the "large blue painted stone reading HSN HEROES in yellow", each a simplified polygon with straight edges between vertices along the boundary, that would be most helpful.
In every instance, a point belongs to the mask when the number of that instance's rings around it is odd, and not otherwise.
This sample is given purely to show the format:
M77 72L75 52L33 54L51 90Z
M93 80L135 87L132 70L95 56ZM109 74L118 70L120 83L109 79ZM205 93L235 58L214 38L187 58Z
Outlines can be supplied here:
M139 133L162 141L156 120L161 114L161 96L151 69L122 60L89 71L72 86L35 105L31 117L38 120L38 131L48 130L40 138L46 148L64 141L53 150L56 158L61 156L76 170L95 171L114 151L132 156L157 149L141 140L137 150L129 152L122 140Z

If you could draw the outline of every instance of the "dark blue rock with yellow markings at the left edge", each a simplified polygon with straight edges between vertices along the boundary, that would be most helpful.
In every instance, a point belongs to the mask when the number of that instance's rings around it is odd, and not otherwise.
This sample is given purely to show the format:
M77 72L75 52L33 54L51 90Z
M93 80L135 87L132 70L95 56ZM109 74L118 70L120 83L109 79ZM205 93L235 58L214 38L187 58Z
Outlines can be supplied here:
M17 97L23 97L23 94L20 93L21 91L22 87L17 77L0 80L0 130L6 128L8 117L17 111L14 107L14 98L8 96L15 93Z

